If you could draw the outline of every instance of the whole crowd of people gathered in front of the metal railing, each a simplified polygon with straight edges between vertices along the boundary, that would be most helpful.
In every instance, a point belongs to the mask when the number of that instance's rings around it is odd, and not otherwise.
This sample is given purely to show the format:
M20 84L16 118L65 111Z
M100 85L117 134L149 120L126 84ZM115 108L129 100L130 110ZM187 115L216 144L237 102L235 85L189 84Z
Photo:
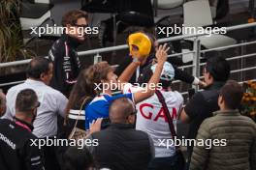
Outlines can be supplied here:
M67 28L85 27L87 14L69 12L62 23ZM229 80L225 58L208 57L200 80L168 61L167 44L137 32L127 41L133 60L117 76L107 62L80 70L76 47L84 36L66 32L54 42L48 59L30 61L24 83L6 96L0 92L1 170L256 169L256 124L240 115L242 89ZM129 82L137 69L135 85ZM184 103L172 89L174 79L200 85L204 91ZM225 139L226 145L188 145L186 164L180 164L181 146L170 144L176 139L178 120L189 124L188 139ZM83 139L95 145L40 149L32 143L71 140L74 128L82 129Z

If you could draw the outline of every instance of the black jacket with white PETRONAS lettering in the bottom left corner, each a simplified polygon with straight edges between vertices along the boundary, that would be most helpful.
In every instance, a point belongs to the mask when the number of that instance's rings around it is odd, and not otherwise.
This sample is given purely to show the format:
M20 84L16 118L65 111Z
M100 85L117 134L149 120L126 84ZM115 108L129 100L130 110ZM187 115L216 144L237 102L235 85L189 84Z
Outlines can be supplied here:
M43 170L42 154L30 139L32 127L23 121L0 119L0 169Z

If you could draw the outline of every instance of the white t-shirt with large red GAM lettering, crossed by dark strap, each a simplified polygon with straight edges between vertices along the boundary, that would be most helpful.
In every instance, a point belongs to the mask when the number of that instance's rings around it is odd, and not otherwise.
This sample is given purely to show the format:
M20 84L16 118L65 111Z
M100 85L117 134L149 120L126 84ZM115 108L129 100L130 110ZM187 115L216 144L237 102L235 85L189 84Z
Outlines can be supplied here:
M143 88L127 83L123 88L123 93L135 93L141 90ZM161 91L161 93L165 98L176 128L176 120L183 104L183 98L176 91ZM154 94L149 99L137 103L136 108L138 110L136 129L145 131L153 139L155 157L174 156L176 152L175 146L167 147L168 139L173 138L162 104L157 96ZM171 142L169 142L170 144Z

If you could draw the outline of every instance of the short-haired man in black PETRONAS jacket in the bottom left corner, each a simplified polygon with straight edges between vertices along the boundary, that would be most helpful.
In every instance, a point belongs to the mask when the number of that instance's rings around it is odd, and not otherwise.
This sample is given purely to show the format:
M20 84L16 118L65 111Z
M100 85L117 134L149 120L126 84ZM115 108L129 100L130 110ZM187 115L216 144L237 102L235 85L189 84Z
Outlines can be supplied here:
M33 122L40 106L35 91L21 90L16 97L14 121L0 120L0 169L1 170L43 170L42 154L32 146Z

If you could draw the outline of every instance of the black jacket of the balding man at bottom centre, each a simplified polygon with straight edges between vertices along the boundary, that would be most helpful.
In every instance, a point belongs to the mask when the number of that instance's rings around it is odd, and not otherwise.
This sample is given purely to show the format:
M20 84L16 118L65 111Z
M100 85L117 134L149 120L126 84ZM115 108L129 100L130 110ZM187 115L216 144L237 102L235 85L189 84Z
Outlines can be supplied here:
M112 124L109 128L95 132L98 146L89 148L99 168L112 170L144 170L154 157L154 148L144 131L131 125Z

